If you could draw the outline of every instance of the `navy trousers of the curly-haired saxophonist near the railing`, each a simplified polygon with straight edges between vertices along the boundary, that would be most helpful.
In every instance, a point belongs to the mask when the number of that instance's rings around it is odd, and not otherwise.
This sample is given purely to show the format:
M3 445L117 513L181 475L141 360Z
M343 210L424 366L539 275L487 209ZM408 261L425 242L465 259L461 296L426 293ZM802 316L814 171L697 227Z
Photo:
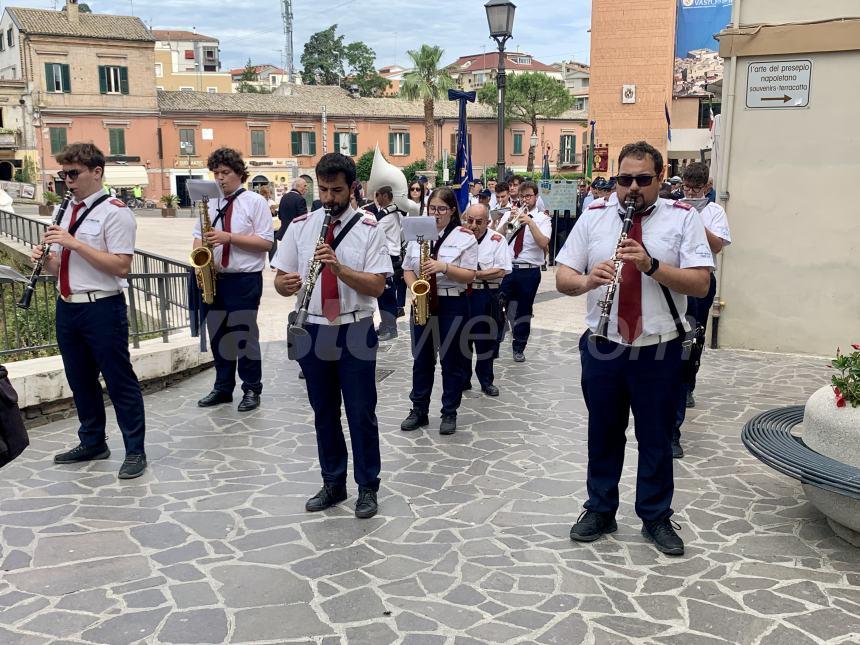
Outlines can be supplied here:
M203 305L209 344L215 359L215 389L233 394L236 374L243 392L263 391L263 362L257 310L263 295L263 274L220 273L215 302Z

